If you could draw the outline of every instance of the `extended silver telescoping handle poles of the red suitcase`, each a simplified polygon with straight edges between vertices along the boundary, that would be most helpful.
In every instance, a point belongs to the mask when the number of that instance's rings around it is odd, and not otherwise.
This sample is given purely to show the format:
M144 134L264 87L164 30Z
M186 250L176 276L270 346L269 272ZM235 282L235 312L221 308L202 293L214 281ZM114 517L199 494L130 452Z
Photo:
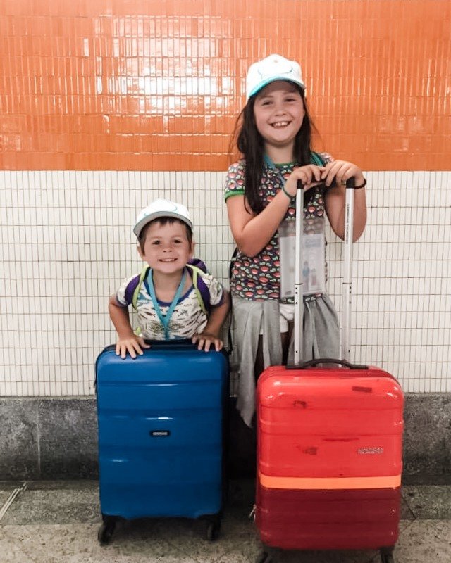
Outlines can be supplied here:
M355 178L346 181L345 198L345 263L342 276L342 335L341 358L350 360L350 320L352 297L352 236L354 227L354 189ZM304 234L304 184L297 181L296 191L296 256L295 256L295 366L302 362L302 318L304 316L303 278L302 278L302 236ZM321 363L330 363L324 360ZM340 363L340 360L335 360Z

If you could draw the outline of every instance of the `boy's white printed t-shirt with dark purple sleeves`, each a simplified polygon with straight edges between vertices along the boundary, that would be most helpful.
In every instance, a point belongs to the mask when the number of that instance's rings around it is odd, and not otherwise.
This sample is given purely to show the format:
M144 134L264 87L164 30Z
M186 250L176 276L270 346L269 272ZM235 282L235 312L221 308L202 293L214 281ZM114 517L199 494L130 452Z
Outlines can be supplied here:
M152 270L149 270L149 274ZM135 274L123 281L121 287L116 293L116 301L123 307L131 305L125 298L125 288L130 281L136 277ZM189 274L188 274L189 275ZM211 274L202 274L202 280L210 292L210 304L212 306L221 305L223 300L223 286ZM159 301L159 307L163 316L168 312L171 303ZM141 284L140 293L138 294L137 318L141 329L141 334L147 340L165 340L164 327L156 314L154 303L149 295L146 284ZM194 286L180 297L178 304L175 306L171 320L169 321L169 338L170 339L190 339L194 334L199 334L205 328L208 317L202 311L199 301L194 291Z

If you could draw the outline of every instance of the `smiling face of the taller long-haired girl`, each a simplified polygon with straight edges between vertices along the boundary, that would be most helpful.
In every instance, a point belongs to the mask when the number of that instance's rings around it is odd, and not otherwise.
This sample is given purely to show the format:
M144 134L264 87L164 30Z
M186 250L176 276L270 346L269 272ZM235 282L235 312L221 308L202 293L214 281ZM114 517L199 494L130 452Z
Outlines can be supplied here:
M292 82L271 82L255 98L255 125L266 148L274 146L292 149L304 115L304 101Z

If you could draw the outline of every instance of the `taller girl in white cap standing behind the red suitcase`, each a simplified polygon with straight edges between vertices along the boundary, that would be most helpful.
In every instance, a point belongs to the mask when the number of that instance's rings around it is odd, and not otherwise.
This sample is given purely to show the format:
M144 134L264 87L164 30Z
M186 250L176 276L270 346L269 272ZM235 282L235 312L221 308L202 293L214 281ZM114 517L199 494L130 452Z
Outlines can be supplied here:
M359 188L366 180L356 165L312 151L313 125L295 61L270 55L250 66L247 103L238 119L243 158L228 169L225 198L237 244L230 280L240 372L237 408L251 426L257 377L268 365L292 361L294 255L285 234L295 220L297 182L304 185L304 234L315 235L304 236L315 272L315 291L304 294L303 358L309 360L339 355L338 319L325 288L324 214L343 239L346 180L354 177ZM357 240L366 222L364 189L355 191L354 217Z

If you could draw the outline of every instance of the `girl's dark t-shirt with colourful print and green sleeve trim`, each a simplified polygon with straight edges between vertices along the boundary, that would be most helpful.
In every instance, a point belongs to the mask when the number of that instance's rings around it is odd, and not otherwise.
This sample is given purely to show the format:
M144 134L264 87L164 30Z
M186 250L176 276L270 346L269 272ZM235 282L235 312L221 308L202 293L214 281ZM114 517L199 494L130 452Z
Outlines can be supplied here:
M327 153L320 153L324 162L333 158ZM263 206L268 203L282 189L280 174L286 179L295 169L294 163L278 164L276 168L264 164L263 175L259 189L259 196ZM245 195L245 160L239 160L230 165L226 177L224 198L236 195ZM304 232L309 227L315 228L318 220L323 220L326 211L324 208L324 190L311 188L305 193L304 198ZM284 220L295 221L296 199L292 198L290 207ZM247 256L237 249L232 258L230 291L233 295L244 299L278 299L280 296L280 261L278 232L274 233L265 248L255 256ZM288 301L293 301L289 299Z

